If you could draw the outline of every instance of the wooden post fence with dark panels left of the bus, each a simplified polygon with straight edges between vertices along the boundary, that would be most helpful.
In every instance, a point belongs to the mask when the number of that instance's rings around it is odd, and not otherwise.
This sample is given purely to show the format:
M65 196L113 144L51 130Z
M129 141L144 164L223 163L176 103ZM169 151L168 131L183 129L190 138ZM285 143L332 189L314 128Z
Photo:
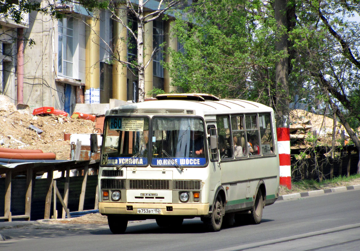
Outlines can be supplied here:
M69 211L97 209L98 166L95 160L0 165L0 173L6 174L0 178L0 221L55 218L57 209L62 209L65 218ZM73 169L83 175L70 177ZM89 169L95 175L88 175ZM55 170L62 172L61 178L53 179ZM48 172L48 177L37 179L36 174L43 172Z

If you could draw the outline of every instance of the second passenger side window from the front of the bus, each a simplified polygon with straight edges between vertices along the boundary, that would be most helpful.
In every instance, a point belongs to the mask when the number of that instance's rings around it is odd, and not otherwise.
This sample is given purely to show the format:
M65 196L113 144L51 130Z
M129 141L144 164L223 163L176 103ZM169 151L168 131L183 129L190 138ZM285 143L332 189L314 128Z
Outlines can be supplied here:
M247 147L245 143L244 116L231 116L231 129L233 137L233 147L235 158L247 156Z

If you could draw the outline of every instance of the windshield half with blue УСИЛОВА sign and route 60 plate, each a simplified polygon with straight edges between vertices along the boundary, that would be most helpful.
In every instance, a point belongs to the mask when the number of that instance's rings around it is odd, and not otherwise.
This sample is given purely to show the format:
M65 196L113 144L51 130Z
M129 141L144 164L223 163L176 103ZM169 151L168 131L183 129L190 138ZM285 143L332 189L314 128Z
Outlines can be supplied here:
M103 137L102 165L148 164L148 117L109 117L104 122Z

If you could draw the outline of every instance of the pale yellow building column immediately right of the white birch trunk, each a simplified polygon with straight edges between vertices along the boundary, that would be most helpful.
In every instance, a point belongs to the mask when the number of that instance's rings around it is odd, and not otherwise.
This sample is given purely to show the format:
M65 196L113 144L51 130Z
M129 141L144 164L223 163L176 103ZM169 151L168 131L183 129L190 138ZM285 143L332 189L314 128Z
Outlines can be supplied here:
M149 18L152 18L150 16ZM148 22L144 26L144 65L150 59L150 55L153 52L153 22ZM152 98L152 95L148 95L148 91L153 89L153 61L148 64L145 69L145 98Z

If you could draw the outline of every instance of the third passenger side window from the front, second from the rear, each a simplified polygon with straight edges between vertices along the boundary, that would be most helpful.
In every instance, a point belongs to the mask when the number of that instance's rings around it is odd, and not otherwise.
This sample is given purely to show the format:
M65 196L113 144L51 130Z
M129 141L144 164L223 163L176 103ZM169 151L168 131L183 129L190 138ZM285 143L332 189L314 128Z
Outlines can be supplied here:
M259 127L257 115L246 115L246 139L250 156L261 155L261 144L259 143Z

